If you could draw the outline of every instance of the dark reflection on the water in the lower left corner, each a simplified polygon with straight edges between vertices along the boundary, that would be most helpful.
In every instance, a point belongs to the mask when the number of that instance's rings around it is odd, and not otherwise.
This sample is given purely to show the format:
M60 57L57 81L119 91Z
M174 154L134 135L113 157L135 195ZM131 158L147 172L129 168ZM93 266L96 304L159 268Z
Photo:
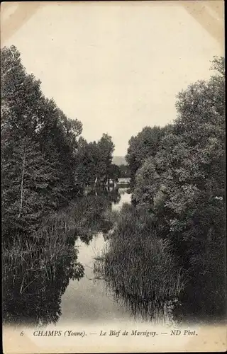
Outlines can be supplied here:
M5 323L56 323L61 315L61 296L70 279L79 280L84 275L83 265L77 262L77 250L72 247L52 262L40 255L39 268L30 268L31 263L26 253L16 259L13 267L11 259L4 257L3 267L7 275L3 287Z

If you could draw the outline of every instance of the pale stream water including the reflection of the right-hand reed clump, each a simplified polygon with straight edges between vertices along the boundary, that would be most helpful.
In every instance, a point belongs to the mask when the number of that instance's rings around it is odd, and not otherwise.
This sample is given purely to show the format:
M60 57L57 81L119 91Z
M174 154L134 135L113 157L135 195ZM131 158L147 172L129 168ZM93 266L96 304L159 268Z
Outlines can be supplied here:
M117 200L111 198L111 209L121 210L124 202L131 202L131 195L126 188L118 190ZM123 286L114 287L101 271L104 265L103 254L109 246L104 232L94 235L89 244L80 238L76 242L79 249L78 260L84 265L84 278L78 282L70 280L62 296L62 316L59 324L71 323L79 318L82 323L90 321L104 324L111 321L139 323L153 321L155 324L172 324L172 303L157 304L145 299L133 297L123 292ZM116 279L116 282L118 280Z

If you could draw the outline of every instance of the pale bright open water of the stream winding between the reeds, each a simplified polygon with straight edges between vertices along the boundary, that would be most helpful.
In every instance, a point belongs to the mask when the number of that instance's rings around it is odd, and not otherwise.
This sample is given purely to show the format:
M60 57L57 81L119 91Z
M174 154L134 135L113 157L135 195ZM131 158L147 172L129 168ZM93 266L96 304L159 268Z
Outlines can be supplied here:
M118 190L121 199L112 203L112 210L121 210L123 203L131 202L131 195L126 189ZM132 314L121 299L116 299L106 281L94 273L94 261L108 246L104 235L97 233L89 245L78 240L75 246L79 249L78 261L84 265L84 277L79 280L70 280L65 293L62 295L62 314L58 324L67 324L79 319L79 322L107 323L109 321L124 321L128 323L142 323L145 321L142 312ZM154 319L155 323L172 323L169 305L162 314Z

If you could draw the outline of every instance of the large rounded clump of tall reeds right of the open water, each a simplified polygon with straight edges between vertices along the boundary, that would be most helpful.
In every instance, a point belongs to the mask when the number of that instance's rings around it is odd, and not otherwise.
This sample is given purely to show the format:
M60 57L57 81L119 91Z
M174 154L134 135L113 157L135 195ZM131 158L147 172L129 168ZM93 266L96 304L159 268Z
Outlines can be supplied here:
M103 257L96 265L114 292L135 307L164 304L184 289L185 275L169 241L155 233L153 217L123 205ZM155 310L155 309L153 309Z

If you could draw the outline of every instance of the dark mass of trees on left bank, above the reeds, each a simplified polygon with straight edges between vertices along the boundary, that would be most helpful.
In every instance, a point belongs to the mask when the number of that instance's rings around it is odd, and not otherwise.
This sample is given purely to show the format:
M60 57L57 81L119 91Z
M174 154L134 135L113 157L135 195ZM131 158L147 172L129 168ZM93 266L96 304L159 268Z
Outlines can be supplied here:
M114 176L114 144L79 137L40 81L28 74L16 47L1 50L2 229L4 241L33 233L44 215L67 205L87 183Z

